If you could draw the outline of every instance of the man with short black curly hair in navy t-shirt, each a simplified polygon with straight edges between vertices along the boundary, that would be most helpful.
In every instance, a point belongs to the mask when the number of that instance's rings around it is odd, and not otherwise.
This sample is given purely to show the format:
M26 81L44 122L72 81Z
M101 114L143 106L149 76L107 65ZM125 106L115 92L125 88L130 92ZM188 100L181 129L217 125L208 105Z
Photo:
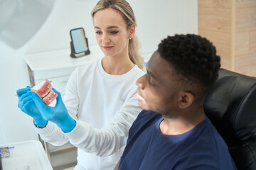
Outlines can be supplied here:
M129 130L119 169L236 169L203 111L220 57L206 38L175 35L159 44L137 80L142 111Z

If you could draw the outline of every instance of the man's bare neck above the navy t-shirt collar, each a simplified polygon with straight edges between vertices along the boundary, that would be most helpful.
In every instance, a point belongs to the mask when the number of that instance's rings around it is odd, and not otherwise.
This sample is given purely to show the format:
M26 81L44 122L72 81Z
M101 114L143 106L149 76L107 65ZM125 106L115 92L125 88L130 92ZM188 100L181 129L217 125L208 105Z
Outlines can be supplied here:
M164 116L164 120L161 121L159 128L164 135L181 135L189 130L193 129L206 119L206 114L203 112L203 108L199 112L191 112L178 116L177 118L169 118Z

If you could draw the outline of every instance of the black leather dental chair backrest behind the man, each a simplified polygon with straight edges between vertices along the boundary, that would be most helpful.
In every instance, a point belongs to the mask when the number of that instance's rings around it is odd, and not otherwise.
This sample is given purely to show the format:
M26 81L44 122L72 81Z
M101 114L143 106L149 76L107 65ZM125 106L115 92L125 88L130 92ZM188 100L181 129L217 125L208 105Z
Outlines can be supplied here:
M256 170L256 77L220 69L204 110L239 170Z

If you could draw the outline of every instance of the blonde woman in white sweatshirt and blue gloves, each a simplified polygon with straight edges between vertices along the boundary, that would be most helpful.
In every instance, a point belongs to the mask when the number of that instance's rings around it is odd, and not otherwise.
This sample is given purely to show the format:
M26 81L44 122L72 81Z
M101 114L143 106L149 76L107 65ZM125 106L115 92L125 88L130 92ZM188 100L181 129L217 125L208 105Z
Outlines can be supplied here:
M135 81L143 59L135 37L136 21L125 0L101 0L92 9L97 44L105 57L71 74L64 103L54 108L30 88L17 91L21 111L31 115L41 138L53 145L78 147L75 169L114 169L135 118L141 111Z

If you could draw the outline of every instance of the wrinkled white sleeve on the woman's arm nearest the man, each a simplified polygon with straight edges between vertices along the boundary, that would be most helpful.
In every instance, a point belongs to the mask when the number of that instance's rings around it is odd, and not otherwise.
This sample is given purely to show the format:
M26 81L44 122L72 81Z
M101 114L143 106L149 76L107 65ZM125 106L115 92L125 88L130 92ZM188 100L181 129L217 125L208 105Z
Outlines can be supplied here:
M75 147L100 157L107 157L126 145L129 128L141 111L136 94L133 94L124 102L112 123L106 128L99 130L77 121L74 130L65 135Z

